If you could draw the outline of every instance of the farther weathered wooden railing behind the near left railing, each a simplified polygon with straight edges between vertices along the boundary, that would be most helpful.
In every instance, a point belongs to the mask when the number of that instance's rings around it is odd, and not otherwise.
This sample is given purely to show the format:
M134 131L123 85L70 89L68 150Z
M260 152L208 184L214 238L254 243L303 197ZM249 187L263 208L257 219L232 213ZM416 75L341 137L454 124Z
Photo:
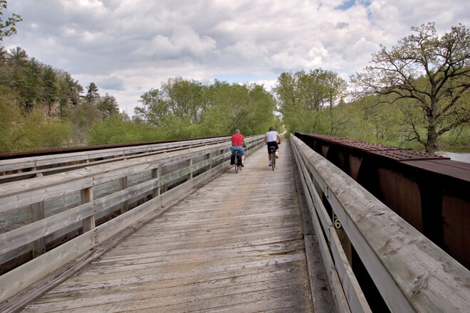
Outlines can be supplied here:
M230 137L193 139L181 142L147 144L135 147L120 147L99 149L86 152L71 152L63 154L48 154L38 157L23 157L19 159L0 160L0 184L9 181L19 181L36 176L46 176L71 171L81 167L120 161L135 157L145 157L152 154L177 151L191 147L201 147L207 144L228 142Z

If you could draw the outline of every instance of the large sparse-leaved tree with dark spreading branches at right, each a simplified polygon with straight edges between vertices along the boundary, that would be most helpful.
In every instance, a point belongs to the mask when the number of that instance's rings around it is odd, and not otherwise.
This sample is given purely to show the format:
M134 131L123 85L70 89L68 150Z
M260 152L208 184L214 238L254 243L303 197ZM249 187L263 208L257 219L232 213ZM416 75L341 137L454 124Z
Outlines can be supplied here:
M405 115L408 140L434 153L442 134L470 120L470 104L464 101L470 88L470 32L459 24L439 37L434 23L411 30L416 34L390 51L382 46L351 82L360 97L380 95L381 102L407 105L413 113Z

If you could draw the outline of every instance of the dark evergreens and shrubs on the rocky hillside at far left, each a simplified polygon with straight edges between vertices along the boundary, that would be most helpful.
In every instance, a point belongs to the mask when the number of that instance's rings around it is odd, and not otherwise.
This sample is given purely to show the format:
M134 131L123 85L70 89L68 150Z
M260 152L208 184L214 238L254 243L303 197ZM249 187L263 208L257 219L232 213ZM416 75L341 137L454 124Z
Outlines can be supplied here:
M86 144L94 122L119 110L95 83L83 92L69 73L0 47L0 152Z

